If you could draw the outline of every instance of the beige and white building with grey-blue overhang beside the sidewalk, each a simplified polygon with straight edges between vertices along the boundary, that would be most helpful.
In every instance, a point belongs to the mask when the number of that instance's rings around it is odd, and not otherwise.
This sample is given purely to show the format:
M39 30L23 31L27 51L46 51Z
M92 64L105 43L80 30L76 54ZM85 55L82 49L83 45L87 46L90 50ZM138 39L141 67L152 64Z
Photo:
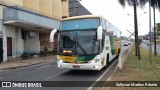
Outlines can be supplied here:
M68 0L0 0L3 61L56 48L49 35L59 29L62 18L69 17L69 4Z

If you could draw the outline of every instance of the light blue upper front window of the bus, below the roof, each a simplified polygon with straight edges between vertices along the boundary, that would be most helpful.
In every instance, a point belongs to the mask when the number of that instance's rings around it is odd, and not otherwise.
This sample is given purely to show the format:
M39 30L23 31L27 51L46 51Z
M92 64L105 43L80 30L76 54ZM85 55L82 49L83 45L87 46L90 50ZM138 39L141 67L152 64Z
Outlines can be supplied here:
M61 23L61 30L79 30L79 29L90 29L98 28L99 19L98 18L88 18L88 19L76 19L76 20L66 20Z

